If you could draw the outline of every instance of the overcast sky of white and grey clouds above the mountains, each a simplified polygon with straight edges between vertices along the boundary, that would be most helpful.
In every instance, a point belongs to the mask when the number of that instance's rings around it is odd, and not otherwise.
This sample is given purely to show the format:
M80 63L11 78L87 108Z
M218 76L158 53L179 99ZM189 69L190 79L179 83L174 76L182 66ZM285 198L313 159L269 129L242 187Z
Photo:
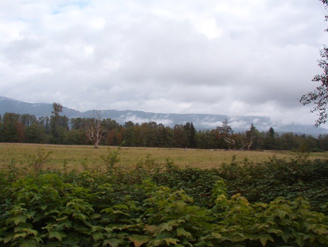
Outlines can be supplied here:
M318 0L0 0L0 96L314 124L297 99L321 73L325 13Z

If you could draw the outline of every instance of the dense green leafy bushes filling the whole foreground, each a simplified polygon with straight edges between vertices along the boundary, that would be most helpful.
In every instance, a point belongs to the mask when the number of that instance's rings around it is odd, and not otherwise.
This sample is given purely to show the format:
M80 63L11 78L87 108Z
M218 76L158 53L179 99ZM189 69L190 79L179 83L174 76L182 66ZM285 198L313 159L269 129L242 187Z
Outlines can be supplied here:
M1 170L3 246L328 246L328 160L248 160L220 169L180 169L147 156L77 173ZM101 169L100 169L101 168ZM284 196L284 197L280 197Z

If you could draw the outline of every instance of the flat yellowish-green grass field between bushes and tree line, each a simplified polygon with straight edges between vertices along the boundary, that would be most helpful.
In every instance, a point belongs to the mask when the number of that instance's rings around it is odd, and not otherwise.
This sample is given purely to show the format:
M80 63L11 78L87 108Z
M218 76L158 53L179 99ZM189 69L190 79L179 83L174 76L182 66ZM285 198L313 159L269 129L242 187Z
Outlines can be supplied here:
M28 164L31 154L36 154L38 149L45 152L51 151L50 161L45 167L61 169L67 163L69 169L82 170L82 163L88 167L101 165L101 155L106 155L108 147L99 146L75 146L75 145L47 145L47 144L25 144L25 143L0 143L0 166L7 165L15 159L17 164ZM110 147L116 150L117 147ZM247 157L250 161L261 162L268 160L275 155L277 158L291 158L295 153L290 151L213 151L202 149L179 148L142 148L142 147L122 147L120 151L120 164L135 165L145 160L147 155L151 155L155 162L164 164L167 158L174 161L180 167L191 166L200 168L217 168L223 162L230 162L233 155L237 160ZM325 153L311 153L310 158L323 158Z

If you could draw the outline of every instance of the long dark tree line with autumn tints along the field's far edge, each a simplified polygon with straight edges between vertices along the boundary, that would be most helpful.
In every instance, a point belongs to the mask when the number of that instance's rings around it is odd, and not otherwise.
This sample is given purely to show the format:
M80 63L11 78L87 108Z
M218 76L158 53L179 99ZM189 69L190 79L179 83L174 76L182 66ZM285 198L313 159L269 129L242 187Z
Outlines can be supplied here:
M272 127L260 132L253 124L247 131L236 133L227 120L207 130L196 130L192 122L174 127L154 121L142 124L128 121L122 125L111 118L96 121L96 115L69 119L61 116L61 111L62 106L54 103L50 117L10 112L0 115L0 142L90 145L95 144L90 139L93 135L90 130L98 127L101 130L98 143L111 146L124 141L125 146L135 147L328 151L327 134L317 137L278 134Z

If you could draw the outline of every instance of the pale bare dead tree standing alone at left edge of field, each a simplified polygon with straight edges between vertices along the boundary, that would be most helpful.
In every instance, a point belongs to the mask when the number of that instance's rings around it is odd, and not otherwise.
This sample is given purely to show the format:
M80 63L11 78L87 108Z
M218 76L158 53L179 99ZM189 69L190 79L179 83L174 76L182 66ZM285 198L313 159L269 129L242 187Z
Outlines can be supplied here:
M92 119L85 126L85 133L88 140L92 141L94 148L98 148L99 142L104 138L107 129L101 128L102 115L100 111L93 111Z

